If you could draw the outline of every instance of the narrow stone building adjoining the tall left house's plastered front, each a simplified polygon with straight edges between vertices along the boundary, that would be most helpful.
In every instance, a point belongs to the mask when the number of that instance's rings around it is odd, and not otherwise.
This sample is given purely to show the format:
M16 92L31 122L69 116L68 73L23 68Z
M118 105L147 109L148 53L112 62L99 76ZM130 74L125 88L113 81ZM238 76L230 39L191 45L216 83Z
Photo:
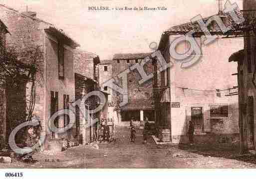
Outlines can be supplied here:
M74 70L75 70L75 100L86 97L89 92L100 91L104 94L106 103L103 109L95 114L91 114L91 120L95 121L100 118L101 113L107 116L108 112L108 93L103 91L99 86L99 56L81 49L76 49L74 53ZM90 97L86 104L86 109L95 109L98 99ZM99 101L98 101L99 102ZM95 140L99 121L93 125L88 125L90 121L88 115L82 114L82 109L76 106L76 136L80 144L88 144ZM84 121L85 120L85 121Z

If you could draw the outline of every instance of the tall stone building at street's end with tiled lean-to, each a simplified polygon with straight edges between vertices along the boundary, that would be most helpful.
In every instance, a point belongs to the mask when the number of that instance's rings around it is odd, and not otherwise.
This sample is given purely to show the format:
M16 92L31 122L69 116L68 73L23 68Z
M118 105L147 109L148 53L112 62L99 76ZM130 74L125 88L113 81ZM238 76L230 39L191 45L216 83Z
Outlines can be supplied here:
M151 53L123 53L114 54L112 63L113 78L117 79L117 75L133 64L141 63L141 61L151 55ZM148 62L144 69L146 73L152 73L152 64ZM120 114L117 116L117 125L129 126L130 120L134 118L134 125L143 127L143 121L147 118L154 121L154 110L152 107L152 81L148 80L143 84L139 84L141 76L137 70L133 70L127 74L128 87L128 104L120 108ZM118 93L112 92L112 101L114 103L119 100Z

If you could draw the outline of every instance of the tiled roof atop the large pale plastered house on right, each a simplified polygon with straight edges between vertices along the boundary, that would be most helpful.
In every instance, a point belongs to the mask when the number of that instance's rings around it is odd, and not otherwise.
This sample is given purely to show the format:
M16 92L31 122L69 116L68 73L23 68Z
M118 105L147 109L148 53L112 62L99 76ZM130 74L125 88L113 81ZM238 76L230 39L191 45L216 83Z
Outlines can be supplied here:
M239 19L243 18L243 13L240 12L240 11L236 11L237 13L237 17ZM214 15L212 16L209 16L209 17L206 17L206 18L203 18L203 21L206 23L208 19L210 19L211 17L213 17ZM221 17L224 17L226 18L226 20L224 21L224 24L226 26L229 26L231 27L232 30L236 29L236 22L234 21L234 19L231 17L231 15L229 13L225 13L224 15L221 15ZM237 20L237 19L235 19ZM214 25L213 23L211 23L210 25L208 25L208 29L210 32L215 32L215 33L221 33L223 34L221 28L219 27L218 24ZM184 24L181 24L181 25L176 25L176 26L172 26L171 28L169 28L166 32L168 33L187 33L191 30L194 30L195 33L197 32L201 32L203 33L203 30L201 29L200 25L198 22L188 22L188 23L184 23Z

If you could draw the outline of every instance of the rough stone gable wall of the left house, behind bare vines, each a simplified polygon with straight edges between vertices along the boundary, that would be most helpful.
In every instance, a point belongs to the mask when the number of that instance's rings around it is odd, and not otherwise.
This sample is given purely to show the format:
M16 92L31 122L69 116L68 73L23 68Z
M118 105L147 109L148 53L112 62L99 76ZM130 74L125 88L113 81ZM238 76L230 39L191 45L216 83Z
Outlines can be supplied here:
M14 48L15 52L26 52L31 49L39 48L43 54L43 38L42 33L44 27L49 24L40 20L36 20L32 17L23 15L13 9L0 5L0 16L3 23L8 27L8 31L11 35L6 35L6 47ZM42 55L43 56L43 55ZM39 62L40 61L40 62ZM29 61L27 61L29 63ZM43 119L43 59L38 59L39 72L36 74L36 96L40 95L40 100L37 100L35 108L40 108L41 113L39 118ZM24 88L24 89L21 89ZM29 88L29 84L27 86ZM23 84L18 87L18 90L14 90L12 87L7 87L6 99L7 99L7 134L14 129L14 127L25 121L25 96L29 94L26 90L26 86Z

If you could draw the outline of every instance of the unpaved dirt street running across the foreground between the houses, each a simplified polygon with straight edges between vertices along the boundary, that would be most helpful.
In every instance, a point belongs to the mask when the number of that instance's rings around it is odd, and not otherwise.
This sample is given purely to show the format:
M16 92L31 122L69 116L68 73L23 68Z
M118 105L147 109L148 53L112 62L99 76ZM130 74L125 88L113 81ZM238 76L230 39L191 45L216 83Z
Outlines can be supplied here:
M256 168L255 155L203 145L156 145L150 137L142 144L142 130L136 129L135 143L130 129L118 128L117 140L70 148L59 153L36 153L33 164L13 162L0 168ZM50 162L46 162L49 159ZM51 162L53 160L53 162Z

